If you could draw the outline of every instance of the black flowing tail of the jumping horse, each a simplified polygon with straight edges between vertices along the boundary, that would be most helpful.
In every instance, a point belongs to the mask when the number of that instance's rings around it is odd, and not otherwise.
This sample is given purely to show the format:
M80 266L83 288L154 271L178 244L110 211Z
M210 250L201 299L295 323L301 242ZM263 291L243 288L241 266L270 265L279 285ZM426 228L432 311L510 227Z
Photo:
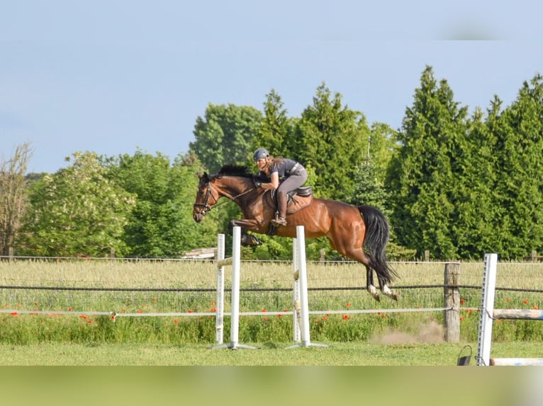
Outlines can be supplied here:
M366 237L364 238L364 252L369 258L370 267L383 277L386 284L390 284L398 277L396 271L388 264L386 258L386 244L390 236L388 221L379 209L371 206L359 206L360 214L366 223Z

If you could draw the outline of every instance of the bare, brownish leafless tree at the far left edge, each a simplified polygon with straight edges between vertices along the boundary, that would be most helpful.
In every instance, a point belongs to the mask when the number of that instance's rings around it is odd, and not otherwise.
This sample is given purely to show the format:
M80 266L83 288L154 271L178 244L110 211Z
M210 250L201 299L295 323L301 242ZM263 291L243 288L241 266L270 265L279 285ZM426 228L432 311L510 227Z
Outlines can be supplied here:
M7 161L0 161L0 255L10 255L26 210L26 170L30 144L16 146Z

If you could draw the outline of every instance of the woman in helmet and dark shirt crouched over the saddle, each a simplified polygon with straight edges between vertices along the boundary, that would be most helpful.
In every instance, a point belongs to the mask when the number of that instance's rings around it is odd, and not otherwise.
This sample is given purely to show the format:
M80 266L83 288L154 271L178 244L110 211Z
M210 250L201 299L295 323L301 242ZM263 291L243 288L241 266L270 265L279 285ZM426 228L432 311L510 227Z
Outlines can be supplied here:
M270 179L269 183L262 183L261 187L269 190L277 190L277 209L279 218L271 220L274 226L286 226L286 202L288 192L303 185L308 173L305 168L296 161L277 156L271 158L264 148L254 151L254 162L260 170L259 178Z

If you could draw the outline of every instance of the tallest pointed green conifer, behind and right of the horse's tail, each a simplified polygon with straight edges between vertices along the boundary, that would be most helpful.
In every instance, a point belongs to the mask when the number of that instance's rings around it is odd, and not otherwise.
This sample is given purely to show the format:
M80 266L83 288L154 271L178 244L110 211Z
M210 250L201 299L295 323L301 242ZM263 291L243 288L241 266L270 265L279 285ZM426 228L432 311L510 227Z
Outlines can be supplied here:
M447 81L437 86L427 66L413 106L406 110L398 134L401 147L388 175L396 236L418 253L428 249L437 258L457 257L450 225L456 220L454 185L466 115Z

